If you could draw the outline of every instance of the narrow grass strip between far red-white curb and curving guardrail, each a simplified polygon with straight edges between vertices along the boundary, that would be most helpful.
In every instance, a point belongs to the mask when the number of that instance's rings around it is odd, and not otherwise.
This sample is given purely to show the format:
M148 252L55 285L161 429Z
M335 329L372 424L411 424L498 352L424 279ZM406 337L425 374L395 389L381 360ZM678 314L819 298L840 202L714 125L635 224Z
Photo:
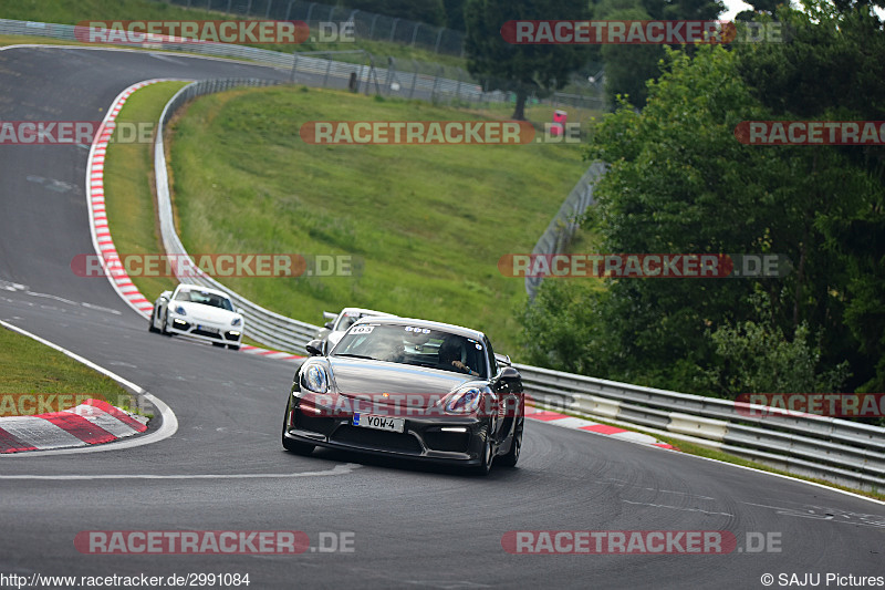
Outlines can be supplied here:
M159 82L140 89L126 101L117 123L156 125L163 107L186 82ZM154 145L112 143L105 158L105 207L114 246L121 255L163 253L157 214L152 192ZM132 277L149 300L174 289L174 277Z

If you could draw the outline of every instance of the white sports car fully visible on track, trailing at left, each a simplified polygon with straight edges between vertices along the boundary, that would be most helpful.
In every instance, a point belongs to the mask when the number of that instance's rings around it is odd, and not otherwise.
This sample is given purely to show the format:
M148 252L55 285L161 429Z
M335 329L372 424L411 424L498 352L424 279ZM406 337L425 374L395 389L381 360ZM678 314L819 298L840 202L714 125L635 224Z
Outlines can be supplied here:
M240 310L222 291L199 284L181 283L164 291L154 302L148 329L166 335L183 334L216 346L240 349L243 333Z

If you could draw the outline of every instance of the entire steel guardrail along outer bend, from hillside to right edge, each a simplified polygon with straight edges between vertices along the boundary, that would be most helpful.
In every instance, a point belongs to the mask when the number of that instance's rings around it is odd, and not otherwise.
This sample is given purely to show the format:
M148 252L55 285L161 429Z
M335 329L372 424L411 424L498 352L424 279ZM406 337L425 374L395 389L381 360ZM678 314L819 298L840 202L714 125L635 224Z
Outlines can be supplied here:
M181 89L166 105L160 128L186 101L266 80L210 80ZM160 234L167 253L187 255L173 222L163 134L155 146ZM590 170L598 175L602 168ZM188 279L228 292L246 315L247 335L298 352L319 327L269 311L226 289L210 277ZM733 402L656 390L517 364L525 392L537 402L600 417L655 434L696 442L788 472L857 489L885 488L885 428L813 415L752 415ZM750 406L758 408L761 406Z

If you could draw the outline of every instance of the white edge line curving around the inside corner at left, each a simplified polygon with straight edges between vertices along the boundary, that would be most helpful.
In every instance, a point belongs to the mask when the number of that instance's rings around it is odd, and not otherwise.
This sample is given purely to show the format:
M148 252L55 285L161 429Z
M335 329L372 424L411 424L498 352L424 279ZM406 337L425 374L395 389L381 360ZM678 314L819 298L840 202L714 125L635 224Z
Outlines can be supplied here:
M122 449L122 448L132 448L132 447L136 447L136 446L148 445L148 444L152 444L152 443L158 443L160 441L164 441L164 439L170 437L171 435L174 435L178 431L178 418L176 417L175 412L173 412L171 407L166 405L160 398L158 398L155 395L152 395L150 393L145 391L144 387L140 387L139 385L136 385L132 381L117 375L113 371L110 371L110 370L107 370L107 369L105 369L105 368L103 368L103 366L101 366L98 364L95 364L94 362L92 362L88 359L85 359L85 358L76 354L75 352L72 352L72 351L70 351L70 350L67 350L67 349L65 349L63 346L60 346L59 344L55 344L54 342L50 342L49 340L40 338L39 335L33 334L33 333L31 333L31 332L29 332L29 331L27 331L27 330L24 330L22 328L13 325L13 324L11 324L9 322L6 322L3 320L0 320L0 325L2 325L3 328L6 328L8 330L12 330L13 332L17 332L17 333L19 333L21 335L24 335L24 337L28 337L28 338L30 338L32 340L35 340L37 342L40 342L41 344L44 344L44 345L46 345L46 346L49 346L49 348L51 348L53 350L56 350L56 351L61 352L62 354L64 354L66 356L70 356L74 361L77 361L79 363L82 363L82 364L88 366L90 369L92 369L94 371L97 371L98 373L102 373L103 375L113 379L114 381L116 381L117 383L119 383L121 385L126 387L127 390L131 390L131 391L142 395L145 400L147 400L148 402L154 404L154 407L157 408L157 411L160 414L162 421L163 421L162 424L160 424L159 429L157 429L156 432L153 432L150 434L146 434L144 436L135 436L133 438L127 438L125 441L119 441L119 442L115 442L115 443L107 443L105 445L90 446L90 447L85 447L85 448L62 448L62 449L55 449L55 451L30 451L28 453L2 454L2 455L0 455L0 457L6 458L6 457L33 457L33 456L38 456L38 455L73 455L73 454L81 454L81 453L98 453L98 452L104 452L104 451L118 451L118 449Z

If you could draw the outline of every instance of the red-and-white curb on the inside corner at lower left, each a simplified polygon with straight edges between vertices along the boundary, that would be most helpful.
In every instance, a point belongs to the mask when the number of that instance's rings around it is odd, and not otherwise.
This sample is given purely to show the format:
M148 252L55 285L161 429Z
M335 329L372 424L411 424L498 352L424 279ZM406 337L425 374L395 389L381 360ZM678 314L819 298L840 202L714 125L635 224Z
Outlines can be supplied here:
M0 454L112 443L145 432L143 420L101 400L62 412L0 417Z

